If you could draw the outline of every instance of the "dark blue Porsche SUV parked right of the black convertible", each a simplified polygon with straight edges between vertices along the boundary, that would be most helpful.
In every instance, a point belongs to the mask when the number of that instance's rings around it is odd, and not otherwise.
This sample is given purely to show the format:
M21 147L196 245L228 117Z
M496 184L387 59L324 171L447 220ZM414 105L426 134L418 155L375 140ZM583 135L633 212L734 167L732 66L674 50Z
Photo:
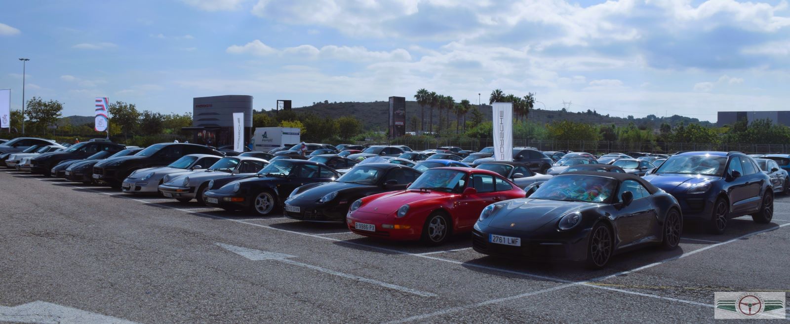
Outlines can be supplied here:
M727 229L729 218L773 218L770 178L754 158L740 152L685 152L673 155L645 180L678 199L683 219L704 222L711 233Z

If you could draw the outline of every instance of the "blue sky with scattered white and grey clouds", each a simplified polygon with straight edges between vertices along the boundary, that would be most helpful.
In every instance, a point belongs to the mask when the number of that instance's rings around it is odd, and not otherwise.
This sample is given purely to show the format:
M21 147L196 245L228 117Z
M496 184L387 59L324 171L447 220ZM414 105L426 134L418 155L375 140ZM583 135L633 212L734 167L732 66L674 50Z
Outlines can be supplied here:
M94 97L161 113L192 98L483 102L614 116L788 110L788 2L136 0L3 2L0 89L92 116ZM563 102L571 102L563 104Z

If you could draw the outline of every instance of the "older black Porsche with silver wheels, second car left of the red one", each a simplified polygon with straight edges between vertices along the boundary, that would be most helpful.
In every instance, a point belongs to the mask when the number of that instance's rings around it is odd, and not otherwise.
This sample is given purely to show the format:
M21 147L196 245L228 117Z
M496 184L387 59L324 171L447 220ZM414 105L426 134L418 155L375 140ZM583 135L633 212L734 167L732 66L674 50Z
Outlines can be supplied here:
M322 163L292 158L276 160L255 177L231 181L221 188L215 184L205 192L205 204L224 210L250 210L265 216L281 207L295 188L338 177L340 173Z

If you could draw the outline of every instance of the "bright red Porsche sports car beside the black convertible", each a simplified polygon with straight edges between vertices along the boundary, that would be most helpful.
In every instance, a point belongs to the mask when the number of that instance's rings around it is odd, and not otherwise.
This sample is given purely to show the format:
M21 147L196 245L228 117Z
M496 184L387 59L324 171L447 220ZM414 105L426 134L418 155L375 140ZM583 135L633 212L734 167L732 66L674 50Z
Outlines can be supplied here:
M389 240L442 244L450 234L472 230L491 203L524 198L516 184L484 169L428 169L405 190L367 196L352 203L352 232Z

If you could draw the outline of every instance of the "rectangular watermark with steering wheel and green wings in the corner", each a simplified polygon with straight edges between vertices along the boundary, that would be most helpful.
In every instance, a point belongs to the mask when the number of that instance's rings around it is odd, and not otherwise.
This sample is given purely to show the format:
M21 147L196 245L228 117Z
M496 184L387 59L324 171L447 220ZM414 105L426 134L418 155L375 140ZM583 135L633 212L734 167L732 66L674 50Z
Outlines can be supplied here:
M784 292L715 292L717 319L784 319Z

